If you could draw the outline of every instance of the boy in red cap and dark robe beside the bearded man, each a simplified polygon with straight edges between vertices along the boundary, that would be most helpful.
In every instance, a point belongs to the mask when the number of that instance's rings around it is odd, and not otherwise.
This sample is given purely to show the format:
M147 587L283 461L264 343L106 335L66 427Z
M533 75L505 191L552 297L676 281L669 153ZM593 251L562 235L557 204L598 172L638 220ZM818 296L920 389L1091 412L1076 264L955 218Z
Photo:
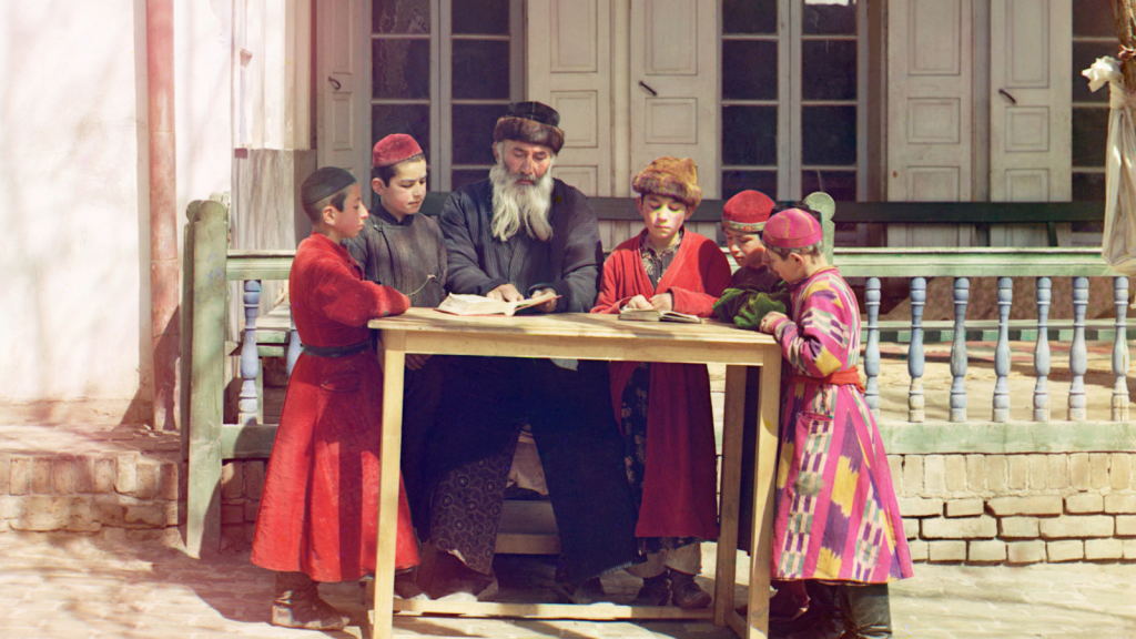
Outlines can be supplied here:
M446 254L437 222L418 215L426 174L426 157L414 138L395 133L379 140L371 150L370 181L378 202L362 231L343 246L362 267L365 280L406 294L410 306L434 308L445 297ZM423 531L429 517L423 468L442 398L444 358L407 355L404 375L400 465L415 528ZM399 580L399 594L417 595L406 578Z

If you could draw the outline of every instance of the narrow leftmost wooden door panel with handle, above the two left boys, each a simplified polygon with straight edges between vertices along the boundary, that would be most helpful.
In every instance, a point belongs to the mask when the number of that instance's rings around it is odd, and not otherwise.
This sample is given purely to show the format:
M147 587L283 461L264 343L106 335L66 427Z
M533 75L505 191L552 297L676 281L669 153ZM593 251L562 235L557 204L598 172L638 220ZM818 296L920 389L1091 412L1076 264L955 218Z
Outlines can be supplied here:
M319 166L370 184L370 0L317 0L316 23Z

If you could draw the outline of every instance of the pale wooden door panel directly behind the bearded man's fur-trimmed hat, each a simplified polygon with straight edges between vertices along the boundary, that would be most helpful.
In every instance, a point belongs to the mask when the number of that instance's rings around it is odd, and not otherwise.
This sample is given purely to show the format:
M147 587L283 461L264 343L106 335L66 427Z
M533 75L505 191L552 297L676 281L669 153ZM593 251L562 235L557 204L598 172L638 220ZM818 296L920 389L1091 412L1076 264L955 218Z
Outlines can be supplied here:
M531 0L527 93L560 113L552 174L611 196L611 0Z

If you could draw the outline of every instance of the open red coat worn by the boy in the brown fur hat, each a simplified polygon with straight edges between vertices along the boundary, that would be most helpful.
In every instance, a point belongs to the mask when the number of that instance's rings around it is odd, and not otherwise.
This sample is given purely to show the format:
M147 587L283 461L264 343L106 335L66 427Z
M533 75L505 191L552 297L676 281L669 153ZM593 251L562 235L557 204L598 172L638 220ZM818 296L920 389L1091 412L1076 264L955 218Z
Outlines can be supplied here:
M643 231L646 233L646 231ZM636 294L670 291L675 310L712 317L730 284L729 264L707 238L685 231L659 287L643 269L643 233L619 244L603 265L592 313L619 313ZM611 363L611 404L621 424L624 387L637 362ZM648 400L646 466L636 537L718 537L717 459L710 375L702 364L652 364Z

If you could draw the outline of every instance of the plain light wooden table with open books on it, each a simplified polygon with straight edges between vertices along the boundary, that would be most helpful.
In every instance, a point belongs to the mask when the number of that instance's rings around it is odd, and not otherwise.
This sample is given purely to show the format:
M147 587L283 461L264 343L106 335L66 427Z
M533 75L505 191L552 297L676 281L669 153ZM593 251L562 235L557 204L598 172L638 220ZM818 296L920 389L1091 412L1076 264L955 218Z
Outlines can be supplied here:
M620 322L613 315L553 314L517 317L458 317L412 308L404 315L371 320L381 332L383 363L383 450L379 476L378 555L375 566L373 637L392 634L394 611L512 616L528 619L658 620L713 619L743 639L766 637L769 622L769 561L772 490L777 464L780 348L768 335L715 321L702 324ZM487 357L561 357L683 364L726 364L726 408L721 465L721 531L715 574L713 609L616 604L506 604L409 601L394 599L394 534L399 498L403 366L408 352ZM734 606L737 518L742 466L745 367L762 366L753 496L757 548L750 572L749 620ZM760 542L759 542L760 540ZM393 606L392 606L393 601Z

